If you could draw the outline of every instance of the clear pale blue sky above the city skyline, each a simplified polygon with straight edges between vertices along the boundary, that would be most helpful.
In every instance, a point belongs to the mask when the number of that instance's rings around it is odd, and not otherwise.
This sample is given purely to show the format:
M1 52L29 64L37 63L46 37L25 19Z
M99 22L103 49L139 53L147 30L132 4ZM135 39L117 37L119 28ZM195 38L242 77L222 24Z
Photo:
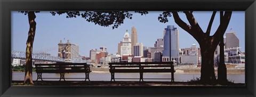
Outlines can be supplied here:
M102 27L92 22L87 22L81 17L66 18L66 14L53 16L49 11L41 11L36 14L36 34L33 45L33 52L46 51L52 56L58 55L58 43L62 39L62 43L70 43L79 45L79 54L89 57L90 50L100 47L107 47L110 54L117 53L117 45L122 41L123 36L128 30L131 36L131 28L135 27L138 34L138 43L142 43L147 47L154 47L157 38L163 38L163 31L168 25L174 25L179 30L180 48L191 47L193 43L199 47L196 40L185 30L180 28L173 17L169 17L169 22L161 23L158 16L161 11L149 11L146 15L131 12L132 19L125 19L124 23L118 28L112 29L112 26ZM193 12L199 26L205 32L210 21L211 11ZM187 24L186 15L179 13L180 18ZM215 15L211 34L213 35L219 26L219 12ZM231 30L230 30L231 29ZM28 38L28 16L18 11L11 12L11 43L12 50L26 51L26 42ZM239 39L241 51L245 51L245 12L233 11L231 19L226 30L235 31ZM225 33L225 35L226 35ZM247 32L250 33L250 32ZM224 36L225 36L224 35ZM64 40L65 38L65 40Z

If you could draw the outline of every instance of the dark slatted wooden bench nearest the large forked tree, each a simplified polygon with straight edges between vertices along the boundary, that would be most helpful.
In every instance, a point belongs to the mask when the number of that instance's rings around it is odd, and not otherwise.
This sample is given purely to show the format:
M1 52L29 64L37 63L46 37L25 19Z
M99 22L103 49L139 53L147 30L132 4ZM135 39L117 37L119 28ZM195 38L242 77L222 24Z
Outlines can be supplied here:
M170 79L170 78L143 78L144 72L171 72L171 82L174 82L173 62L114 62L109 63L111 80L115 79L138 79L138 78L115 78L115 73L139 73L140 81L143 79Z

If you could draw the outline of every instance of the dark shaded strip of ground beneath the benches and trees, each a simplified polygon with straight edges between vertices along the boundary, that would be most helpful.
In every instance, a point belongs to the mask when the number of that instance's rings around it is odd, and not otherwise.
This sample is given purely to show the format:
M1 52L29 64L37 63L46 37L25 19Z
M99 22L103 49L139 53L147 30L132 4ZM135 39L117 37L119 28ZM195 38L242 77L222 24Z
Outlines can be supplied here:
M23 81L12 81L12 86L223 86L203 85L190 82L138 82L138 81L34 81L34 85L23 84ZM245 86L243 83L229 83L224 86Z

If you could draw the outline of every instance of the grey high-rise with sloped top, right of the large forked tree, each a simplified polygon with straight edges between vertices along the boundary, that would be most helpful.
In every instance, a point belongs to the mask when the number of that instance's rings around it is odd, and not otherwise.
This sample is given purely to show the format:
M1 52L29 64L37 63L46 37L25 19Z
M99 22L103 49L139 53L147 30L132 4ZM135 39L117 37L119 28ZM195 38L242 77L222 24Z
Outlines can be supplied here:
M226 48L236 48L239 47L239 39L236 32L231 31L226 33Z

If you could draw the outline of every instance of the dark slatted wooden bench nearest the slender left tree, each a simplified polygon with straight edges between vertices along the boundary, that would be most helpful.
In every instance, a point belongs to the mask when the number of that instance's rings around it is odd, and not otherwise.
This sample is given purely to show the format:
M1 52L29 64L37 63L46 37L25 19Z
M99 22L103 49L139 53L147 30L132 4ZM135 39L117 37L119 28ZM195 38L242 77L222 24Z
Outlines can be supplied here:
M60 74L60 80L65 80L65 73L73 73L73 72L84 72L85 73L85 81L89 79L89 73L91 72L89 65L86 63L50 63L50 64L35 64L37 79L42 78L43 73L56 73ZM44 78L44 79L57 79L57 78ZM66 79L83 79L83 78L66 78ZM59 81L60 81L59 80Z

